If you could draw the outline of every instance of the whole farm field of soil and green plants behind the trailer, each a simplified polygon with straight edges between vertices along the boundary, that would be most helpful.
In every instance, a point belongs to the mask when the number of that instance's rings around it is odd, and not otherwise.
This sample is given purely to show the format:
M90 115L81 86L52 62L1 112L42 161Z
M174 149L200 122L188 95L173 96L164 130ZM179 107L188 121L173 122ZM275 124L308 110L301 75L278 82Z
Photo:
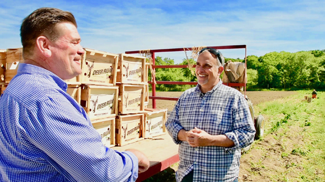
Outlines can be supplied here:
M167 94L178 97L181 93ZM325 94L318 92L318 99L311 103L304 99L311 97L310 90L246 94L253 102L255 116L265 118L265 133L242 155L239 181L325 181ZM157 107L172 109L175 103L157 101ZM145 182L176 181L177 165Z

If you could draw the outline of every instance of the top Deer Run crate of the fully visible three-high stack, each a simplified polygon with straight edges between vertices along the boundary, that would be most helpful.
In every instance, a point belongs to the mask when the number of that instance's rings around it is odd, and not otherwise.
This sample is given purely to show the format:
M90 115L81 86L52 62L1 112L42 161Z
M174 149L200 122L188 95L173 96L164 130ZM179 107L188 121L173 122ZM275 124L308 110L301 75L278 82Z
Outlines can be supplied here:
M116 81L120 83L145 83L146 57L120 54Z

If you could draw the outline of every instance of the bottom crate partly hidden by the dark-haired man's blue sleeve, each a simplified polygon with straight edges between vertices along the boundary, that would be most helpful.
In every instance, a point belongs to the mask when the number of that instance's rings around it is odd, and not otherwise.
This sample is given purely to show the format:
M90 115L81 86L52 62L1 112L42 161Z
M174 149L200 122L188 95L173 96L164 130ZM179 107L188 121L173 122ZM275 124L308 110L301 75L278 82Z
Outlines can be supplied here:
M99 119L91 124L101 135L104 146L115 146L115 117Z

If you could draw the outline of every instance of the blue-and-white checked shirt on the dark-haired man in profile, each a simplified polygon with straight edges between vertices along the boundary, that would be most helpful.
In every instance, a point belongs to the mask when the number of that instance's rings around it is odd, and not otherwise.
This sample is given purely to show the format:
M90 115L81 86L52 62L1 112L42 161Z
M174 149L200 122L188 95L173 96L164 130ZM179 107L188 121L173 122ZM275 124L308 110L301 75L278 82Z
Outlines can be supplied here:
M135 181L138 158L102 144L67 84L19 64L0 98L0 181Z

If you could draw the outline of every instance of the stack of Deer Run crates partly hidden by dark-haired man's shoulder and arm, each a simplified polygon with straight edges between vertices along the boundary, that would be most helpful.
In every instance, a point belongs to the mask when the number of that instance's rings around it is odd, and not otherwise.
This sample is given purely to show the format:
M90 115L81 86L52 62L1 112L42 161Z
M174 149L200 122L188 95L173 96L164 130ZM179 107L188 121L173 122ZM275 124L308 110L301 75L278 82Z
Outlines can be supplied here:
M84 108L93 127L101 134L103 144L114 147L115 117L118 114L118 86L115 84L119 55L92 49L84 51L82 73L66 80L68 93Z

